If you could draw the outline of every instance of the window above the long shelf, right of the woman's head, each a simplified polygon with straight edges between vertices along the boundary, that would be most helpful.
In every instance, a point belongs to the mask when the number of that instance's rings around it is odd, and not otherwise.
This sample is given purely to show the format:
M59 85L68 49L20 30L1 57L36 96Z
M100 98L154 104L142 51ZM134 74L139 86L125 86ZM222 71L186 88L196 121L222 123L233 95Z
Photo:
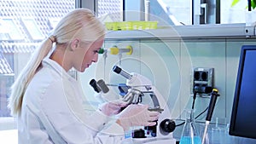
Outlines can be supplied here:
M169 25L195 25L196 21L204 19L204 15L197 16L198 13L207 12L207 20L198 24L232 24L245 23L247 14L247 1L239 1L235 6L231 6L234 0L211 0L201 3L201 0L98 0L98 16L104 16L103 20L143 20L139 14L120 14L122 9L146 11L149 2L149 11L160 19L166 20ZM144 5L142 4L144 2ZM199 2L199 3L198 3ZM196 4L198 3L198 4ZM201 4L201 6L199 6ZM193 8L194 5L194 8ZM124 7L124 8L123 8ZM201 10L199 10L201 7ZM204 11L205 7L207 8ZM200 11L200 12L199 12ZM194 13L194 15L193 15ZM123 17L124 16L124 17ZM130 19L132 17L132 19ZM126 18L126 19L125 19ZM128 18L128 19L127 19ZM198 19L198 20L197 20Z

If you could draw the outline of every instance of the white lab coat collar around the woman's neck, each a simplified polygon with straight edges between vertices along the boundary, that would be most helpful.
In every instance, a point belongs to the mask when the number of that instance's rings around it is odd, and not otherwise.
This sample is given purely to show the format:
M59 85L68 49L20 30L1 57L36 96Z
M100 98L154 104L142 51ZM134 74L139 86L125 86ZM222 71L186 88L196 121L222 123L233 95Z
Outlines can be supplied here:
M61 77L63 78L67 78L69 80L74 80L75 79L73 77L71 77L66 71L65 69L60 66L55 60L51 60L49 58L44 58L44 60L42 61L43 66L48 66L51 67L52 69L55 70L55 72L57 72L58 74L60 74Z

